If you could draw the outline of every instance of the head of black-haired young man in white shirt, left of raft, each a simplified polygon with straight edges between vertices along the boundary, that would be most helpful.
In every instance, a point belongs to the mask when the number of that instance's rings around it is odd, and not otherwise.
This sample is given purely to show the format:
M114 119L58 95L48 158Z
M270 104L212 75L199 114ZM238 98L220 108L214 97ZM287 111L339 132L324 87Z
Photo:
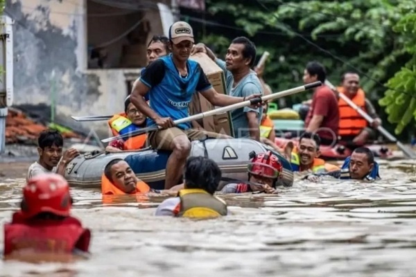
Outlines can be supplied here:
M64 139L58 131L47 129L40 133L37 139L37 152L40 164L49 170L57 166L62 158L63 146Z

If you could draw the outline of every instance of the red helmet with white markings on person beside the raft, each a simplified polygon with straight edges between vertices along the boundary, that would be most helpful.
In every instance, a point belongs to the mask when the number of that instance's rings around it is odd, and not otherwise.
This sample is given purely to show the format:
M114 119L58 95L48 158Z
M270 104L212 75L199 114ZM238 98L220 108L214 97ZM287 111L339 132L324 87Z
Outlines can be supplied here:
M270 151L257 154L248 164L248 172L270 179L281 177L282 170L283 166L281 166L279 157Z

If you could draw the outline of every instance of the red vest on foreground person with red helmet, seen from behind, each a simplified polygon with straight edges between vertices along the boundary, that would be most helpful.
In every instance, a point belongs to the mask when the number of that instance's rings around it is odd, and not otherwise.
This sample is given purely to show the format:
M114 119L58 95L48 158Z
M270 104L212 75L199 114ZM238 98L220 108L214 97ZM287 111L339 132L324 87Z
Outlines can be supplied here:
M64 220L24 220L21 212L13 214L12 222L4 225L4 255L22 249L37 252L71 253L74 249L87 252L91 233L74 217Z

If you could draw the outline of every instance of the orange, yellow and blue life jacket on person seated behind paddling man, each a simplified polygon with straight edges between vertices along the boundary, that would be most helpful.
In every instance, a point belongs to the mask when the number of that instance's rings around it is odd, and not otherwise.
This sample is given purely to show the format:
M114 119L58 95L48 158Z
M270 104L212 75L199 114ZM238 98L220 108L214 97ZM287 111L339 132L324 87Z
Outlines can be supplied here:
M121 134L127 134L129 132L141 129L137 125L133 124L130 119L127 118L125 113L115 114L110 120L108 120L111 132L114 136ZM140 134L138 136L132 136L130 138L123 139L124 150L138 150L146 145L146 134Z

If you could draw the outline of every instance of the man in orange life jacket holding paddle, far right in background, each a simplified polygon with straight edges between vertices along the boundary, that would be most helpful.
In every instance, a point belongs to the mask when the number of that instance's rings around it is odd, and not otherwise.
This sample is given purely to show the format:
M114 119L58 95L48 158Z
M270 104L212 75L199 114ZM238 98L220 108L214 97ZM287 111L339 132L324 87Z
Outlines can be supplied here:
M373 128L381 125L381 119L376 114L370 100L365 98L365 92L360 88L360 76L357 73L347 72L341 80L342 86L337 87L340 93L345 94L358 107L374 118ZM350 107L342 98L338 100L340 111L339 136L341 141L352 141L354 145L364 145L368 140L375 139L374 129L367 127L367 120Z

